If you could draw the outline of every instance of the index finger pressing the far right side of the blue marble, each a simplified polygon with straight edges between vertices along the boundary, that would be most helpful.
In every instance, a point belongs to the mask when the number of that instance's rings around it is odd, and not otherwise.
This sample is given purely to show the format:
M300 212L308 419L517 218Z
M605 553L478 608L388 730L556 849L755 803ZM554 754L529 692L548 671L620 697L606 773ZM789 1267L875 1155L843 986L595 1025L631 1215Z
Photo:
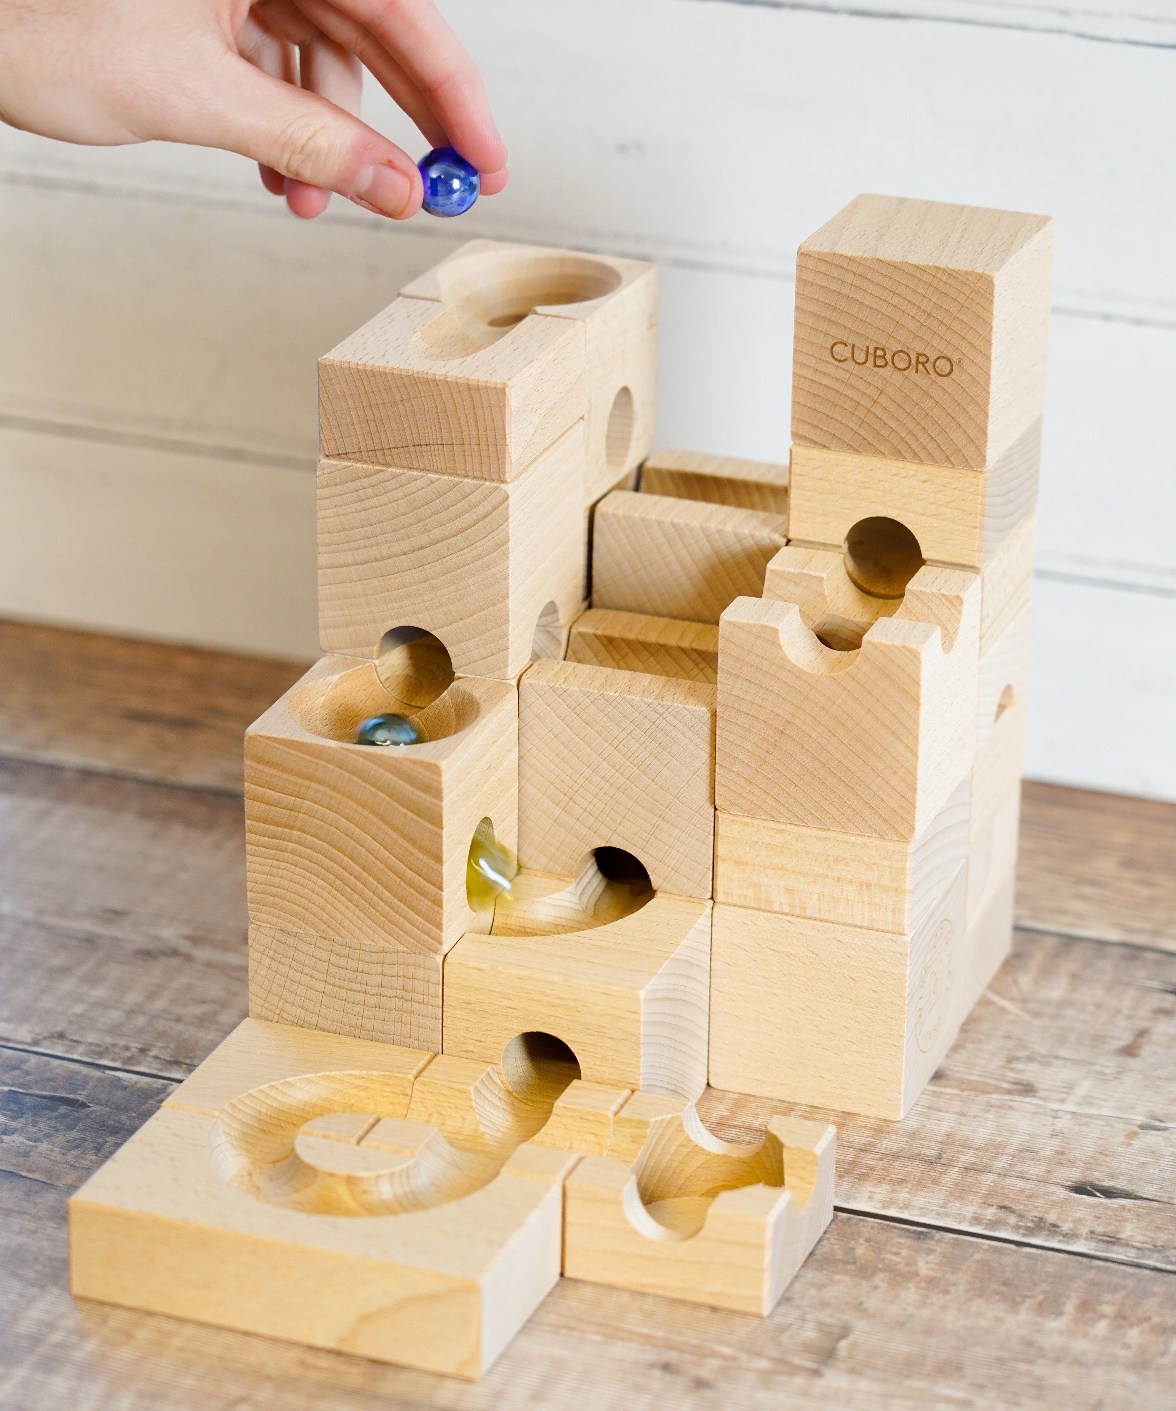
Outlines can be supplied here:
M466 161L480 172L507 165L481 75L432 0L336 0L336 8L380 40Z

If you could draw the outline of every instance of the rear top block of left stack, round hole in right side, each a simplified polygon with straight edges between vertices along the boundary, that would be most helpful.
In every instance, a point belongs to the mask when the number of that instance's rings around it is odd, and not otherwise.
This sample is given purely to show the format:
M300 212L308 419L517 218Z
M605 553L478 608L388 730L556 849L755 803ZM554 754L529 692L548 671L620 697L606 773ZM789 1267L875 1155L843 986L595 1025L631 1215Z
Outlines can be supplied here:
M599 499L649 453L658 349L656 265L472 240L401 293L452 306L463 332L479 344L497 337L505 341L511 329L544 319L583 329L584 504ZM514 402L511 413L517 415Z

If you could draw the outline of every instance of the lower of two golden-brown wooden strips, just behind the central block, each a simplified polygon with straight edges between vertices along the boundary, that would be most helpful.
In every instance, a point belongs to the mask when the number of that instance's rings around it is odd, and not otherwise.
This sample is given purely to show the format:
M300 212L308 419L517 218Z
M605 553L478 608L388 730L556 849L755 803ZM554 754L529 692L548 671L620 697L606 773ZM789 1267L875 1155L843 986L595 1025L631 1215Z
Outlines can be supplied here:
M566 660L714 686L719 628L713 622L592 608L572 624Z

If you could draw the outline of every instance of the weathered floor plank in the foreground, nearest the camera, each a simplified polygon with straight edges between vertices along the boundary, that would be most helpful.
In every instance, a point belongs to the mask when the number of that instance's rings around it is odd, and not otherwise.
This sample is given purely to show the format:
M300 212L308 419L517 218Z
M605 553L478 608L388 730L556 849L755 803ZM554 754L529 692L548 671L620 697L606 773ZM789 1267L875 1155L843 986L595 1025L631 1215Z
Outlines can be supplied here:
M75 1302L65 1198L167 1085L7 1055L0 1086L0 1404L21 1411L1105 1411L1176 1384L1170 1276L853 1215L771 1318L562 1281L476 1386Z

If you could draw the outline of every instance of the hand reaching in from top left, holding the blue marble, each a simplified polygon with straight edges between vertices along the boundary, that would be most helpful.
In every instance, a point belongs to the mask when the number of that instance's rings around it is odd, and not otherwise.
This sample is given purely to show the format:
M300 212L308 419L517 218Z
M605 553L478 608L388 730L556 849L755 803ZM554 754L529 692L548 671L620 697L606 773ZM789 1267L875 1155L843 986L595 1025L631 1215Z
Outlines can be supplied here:
M483 195L505 186L481 78L432 0L0 0L6 123L240 152L304 217L330 192L394 220L421 206L416 164L357 117L363 66Z

